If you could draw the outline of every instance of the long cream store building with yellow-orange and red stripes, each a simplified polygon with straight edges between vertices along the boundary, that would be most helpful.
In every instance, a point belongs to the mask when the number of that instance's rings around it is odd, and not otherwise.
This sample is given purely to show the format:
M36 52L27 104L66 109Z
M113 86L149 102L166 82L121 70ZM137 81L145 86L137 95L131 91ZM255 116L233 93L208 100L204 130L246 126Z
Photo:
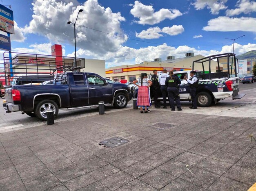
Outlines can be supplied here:
M191 70L193 61L198 59L205 58L202 55L194 56L193 52L185 54L186 57L175 59L174 56L167 56L166 61L161 59L154 59L154 61L144 61L140 64L134 65L121 65L116 67L110 67L106 69L106 77L118 82L120 80L127 80L127 82L137 79L142 72L147 74L153 74L153 70L163 71L166 69L167 72L170 70L182 71L182 70ZM205 63L207 65L208 63ZM218 70L218 64L216 61L211 61L211 72L216 72ZM196 64L194 66L195 70L203 70L202 65ZM208 66L205 67L205 70L208 69ZM209 71L206 71L209 72Z

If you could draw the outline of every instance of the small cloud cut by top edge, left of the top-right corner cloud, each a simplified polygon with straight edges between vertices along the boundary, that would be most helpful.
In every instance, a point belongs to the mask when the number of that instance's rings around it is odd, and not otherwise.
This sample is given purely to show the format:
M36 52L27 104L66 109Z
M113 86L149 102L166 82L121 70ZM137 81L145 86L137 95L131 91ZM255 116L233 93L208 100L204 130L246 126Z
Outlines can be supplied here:
M220 10L227 9L227 6L225 6L226 2L227 0L195 0L191 4L194 5L196 10L207 7L207 9L211 10L211 14L217 15Z

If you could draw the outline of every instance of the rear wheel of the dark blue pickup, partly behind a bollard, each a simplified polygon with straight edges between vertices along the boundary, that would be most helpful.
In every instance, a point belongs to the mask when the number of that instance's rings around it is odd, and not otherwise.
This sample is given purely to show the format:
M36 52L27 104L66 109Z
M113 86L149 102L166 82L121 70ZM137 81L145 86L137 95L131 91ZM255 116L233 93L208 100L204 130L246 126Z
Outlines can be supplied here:
M42 100L41 102L39 102L36 105L36 117L38 117L39 119L41 119L42 121L46 121L46 110L47 109L53 109L53 115L54 118L57 117L58 113L59 113L59 107L56 104L56 102L54 102L53 100Z

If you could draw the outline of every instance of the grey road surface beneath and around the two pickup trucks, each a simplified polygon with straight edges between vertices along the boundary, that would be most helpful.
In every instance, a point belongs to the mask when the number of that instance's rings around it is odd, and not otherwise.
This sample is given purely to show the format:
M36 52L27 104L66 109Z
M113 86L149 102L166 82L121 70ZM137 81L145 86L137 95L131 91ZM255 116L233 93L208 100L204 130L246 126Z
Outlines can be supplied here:
M252 90L251 90L252 89ZM196 111L192 111L198 114L209 114L209 115L236 115L237 112L242 111L242 107L246 111L252 110L252 113L256 113L253 109L254 107L252 104L256 104L256 83L252 84L240 84L240 93L246 93L247 95L242 98L241 100L232 100L232 98L227 98L225 100L220 100L218 104L215 106L211 106L209 108L202 108L198 109ZM24 114L22 115L21 112L13 112L13 113L6 113L5 110L2 107L2 99L0 99L0 133L1 132L7 132L10 130L18 130L22 128L29 128L33 126L40 126L43 124L46 124L46 122L42 122L36 117L29 117L28 115ZM127 108L117 110L114 107L107 106L105 109L106 113L109 112L116 112L116 111L122 111L127 110L132 107L132 100L128 103ZM181 102L182 106L184 108L188 108L190 102L183 101ZM234 113L231 112L231 109L238 109L238 111L234 110ZM252 109L251 109L252 108ZM213 111L215 111L213 113ZM191 110L185 110L183 109L182 112L191 113ZM55 120L55 122L64 122L69 119L76 119L79 117L86 117L91 115L98 115L98 108L94 109L77 109L77 110L67 110L67 109L60 109L58 114L58 119ZM100 117L100 115L99 115ZM247 115L242 115L238 117L252 117ZM254 116L255 117L255 116Z

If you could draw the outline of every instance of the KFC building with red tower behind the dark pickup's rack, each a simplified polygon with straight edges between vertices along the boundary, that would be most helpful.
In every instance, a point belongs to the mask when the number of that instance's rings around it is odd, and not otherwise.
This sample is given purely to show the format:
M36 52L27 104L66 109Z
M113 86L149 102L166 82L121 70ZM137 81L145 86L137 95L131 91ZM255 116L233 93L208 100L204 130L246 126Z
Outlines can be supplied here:
M8 52L7 52L8 53ZM78 72L93 72L105 77L105 60L77 58L62 56L62 46L53 45L51 55L18 53L9 61L9 53L4 54L4 66L0 73L0 84L5 85L5 75L10 81L15 74L51 74L53 70L64 66L76 65L81 69ZM11 71L12 70L12 71ZM61 70L59 70L61 72Z

